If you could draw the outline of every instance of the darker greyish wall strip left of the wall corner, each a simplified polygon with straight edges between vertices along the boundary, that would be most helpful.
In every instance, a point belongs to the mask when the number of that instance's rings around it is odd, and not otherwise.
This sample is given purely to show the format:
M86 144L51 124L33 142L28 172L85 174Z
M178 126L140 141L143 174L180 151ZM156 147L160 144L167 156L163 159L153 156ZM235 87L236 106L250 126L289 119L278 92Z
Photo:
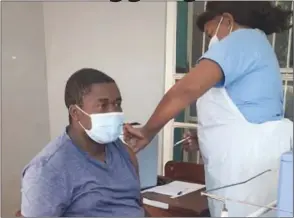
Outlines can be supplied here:
M21 170L50 136L42 3L2 2L1 51L2 217L10 217Z

